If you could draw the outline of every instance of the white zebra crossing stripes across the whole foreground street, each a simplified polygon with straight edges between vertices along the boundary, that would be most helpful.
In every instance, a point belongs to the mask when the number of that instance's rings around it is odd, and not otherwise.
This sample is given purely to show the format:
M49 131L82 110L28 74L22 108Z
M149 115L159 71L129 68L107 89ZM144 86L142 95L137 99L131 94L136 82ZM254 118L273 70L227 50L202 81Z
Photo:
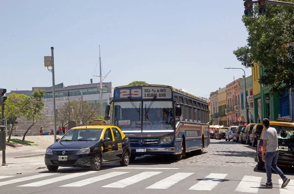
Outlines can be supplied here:
M168 174L168 175L166 175ZM90 177L87 177L90 176ZM76 179L73 179L76 178ZM91 185L98 181L104 181L98 186L101 188L126 188L132 185L140 187L140 189L148 190L166 190L174 187L184 185L187 190L197 191L213 191L220 188L227 187L226 181L233 180L230 184L234 185L231 191L256 194L262 188L262 180L265 182L266 178L260 176L241 176L240 179L232 178L226 173L209 173L207 176L199 179L199 174L196 172L172 172L172 171L145 171L145 172L103 172L103 171L87 171L76 173L42 173L26 177L17 178L16 176L0 176L1 186L14 184L16 187L42 187L54 184L54 187L83 187ZM5 180L7 179L7 180ZM78 180L80 179L80 180ZM69 180L73 180L72 182ZM32 182L29 182L32 181ZM68 184L64 184L67 181ZM156 182L155 182L156 181ZM239 181L239 182L235 182ZM25 182L25 184L23 183ZM70 182L70 183L69 183ZM140 183L144 184L140 184ZM274 183L276 182L276 183ZM23 183L23 184L22 184ZM139 183L139 184L137 184ZM236 184L237 183L237 184ZM288 186L281 189L282 179L273 180L276 191L274 193L280 194L294 194L294 180L291 180ZM144 186L143 186L144 185ZM236 185L236 186L235 186ZM91 186L92 187L92 186ZM141 188L142 187L142 188Z

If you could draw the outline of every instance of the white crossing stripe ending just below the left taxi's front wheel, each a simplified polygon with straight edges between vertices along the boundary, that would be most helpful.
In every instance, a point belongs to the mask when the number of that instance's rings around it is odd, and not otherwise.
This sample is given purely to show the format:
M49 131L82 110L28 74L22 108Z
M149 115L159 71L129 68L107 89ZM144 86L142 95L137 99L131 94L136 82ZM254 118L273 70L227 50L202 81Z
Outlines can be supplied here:
M47 179L47 180L41 180L41 181L38 181L38 182L33 182L33 183L25 184L25 185L20 185L18 187L40 187L40 186L48 185L48 184L51 184L51 183L56 183L58 181L68 180L70 178L83 176L83 175L87 175L87 174L92 174L92 173L95 173L95 171L77 172L77 173L67 174L67 175L64 175L64 176L58 176L58 177L55 177L55 178L50 178L50 179Z

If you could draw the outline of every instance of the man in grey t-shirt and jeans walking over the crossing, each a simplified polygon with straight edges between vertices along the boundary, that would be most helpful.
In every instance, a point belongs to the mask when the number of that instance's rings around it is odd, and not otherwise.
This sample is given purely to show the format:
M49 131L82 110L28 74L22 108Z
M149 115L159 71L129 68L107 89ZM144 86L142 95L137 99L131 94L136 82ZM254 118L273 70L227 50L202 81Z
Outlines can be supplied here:
M270 127L270 120L263 119L263 127L266 129L262 134L263 146L262 146L262 160L265 162L265 169L267 172L266 186L272 187L271 182L271 169L277 172L283 180L282 188L286 187L290 181L286 175L277 167L277 160L279 155L278 149L278 134L276 129Z

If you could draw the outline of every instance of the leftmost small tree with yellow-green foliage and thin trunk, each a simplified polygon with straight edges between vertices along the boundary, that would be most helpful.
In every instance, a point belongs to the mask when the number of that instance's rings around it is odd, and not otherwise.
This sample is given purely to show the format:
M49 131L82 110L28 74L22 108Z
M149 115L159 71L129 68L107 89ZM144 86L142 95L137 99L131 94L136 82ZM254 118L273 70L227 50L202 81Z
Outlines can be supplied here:
M9 136L7 143L10 142L12 129L14 128L16 119L21 116L26 116L29 112L30 97L25 94L12 93L7 97L5 101L5 118L9 119L11 128L9 130Z

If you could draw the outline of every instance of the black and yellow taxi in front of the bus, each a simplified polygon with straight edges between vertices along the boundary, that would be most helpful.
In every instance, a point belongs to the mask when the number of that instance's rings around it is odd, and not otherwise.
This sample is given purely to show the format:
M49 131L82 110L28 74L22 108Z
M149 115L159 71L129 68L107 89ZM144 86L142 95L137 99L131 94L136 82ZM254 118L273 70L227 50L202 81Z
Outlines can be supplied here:
M95 120L88 125L73 127L61 139L50 145L45 154L49 171L58 167L83 167L98 171L102 164L120 162L127 166L130 160L130 141L122 130Z

